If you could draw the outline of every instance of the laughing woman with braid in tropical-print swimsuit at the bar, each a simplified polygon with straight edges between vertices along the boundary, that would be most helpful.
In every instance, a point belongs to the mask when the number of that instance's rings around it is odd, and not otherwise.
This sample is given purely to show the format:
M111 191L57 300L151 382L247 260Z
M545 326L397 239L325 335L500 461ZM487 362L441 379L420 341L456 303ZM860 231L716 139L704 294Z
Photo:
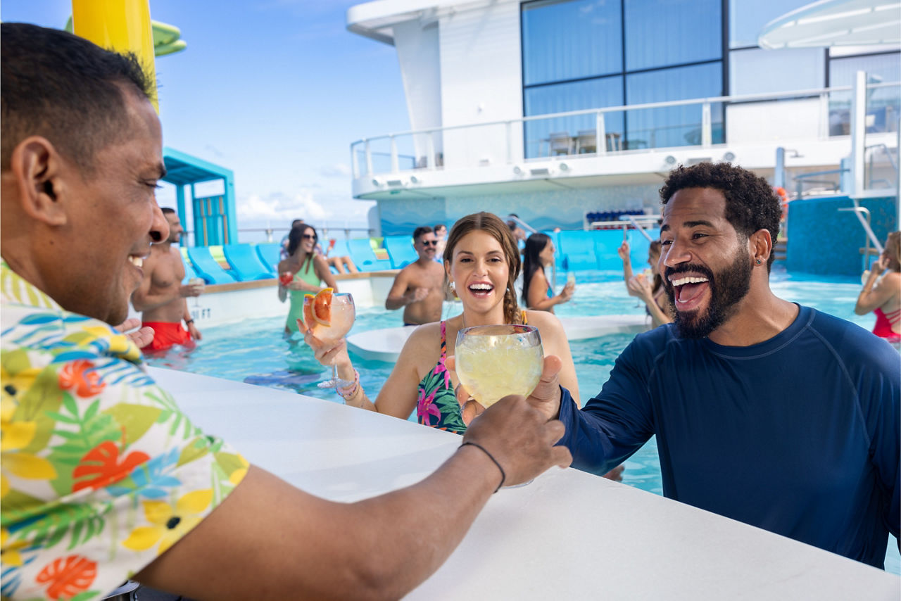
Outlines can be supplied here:
M454 223L444 249L444 271L460 296L463 313L443 322L426 323L410 334L375 403L359 386L359 374L350 363L344 341L324 348L310 334L305 340L316 352L316 359L329 366L334 360L338 377L354 382L339 390L347 405L401 419L415 410L419 423L461 434L466 431L466 423L454 394L457 375L444 367L444 360L453 355L457 332L472 325L529 323L541 332L544 353L560 357L560 384L578 403L576 368L563 327L551 314L519 308L513 286L519 269L516 242L499 217L477 213Z

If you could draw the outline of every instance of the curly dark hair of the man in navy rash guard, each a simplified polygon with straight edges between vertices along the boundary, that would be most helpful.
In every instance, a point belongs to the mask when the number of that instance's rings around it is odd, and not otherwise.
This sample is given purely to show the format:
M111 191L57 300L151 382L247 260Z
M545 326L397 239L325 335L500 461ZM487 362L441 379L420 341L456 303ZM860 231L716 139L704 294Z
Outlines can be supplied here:
M679 190L687 187L712 187L726 199L726 221L745 238L759 230L769 230L776 243L782 205L769 182L745 168L732 163L698 163L690 167L679 165L669 172L660 188L660 202L666 205ZM767 270L772 268L775 255L770 252Z

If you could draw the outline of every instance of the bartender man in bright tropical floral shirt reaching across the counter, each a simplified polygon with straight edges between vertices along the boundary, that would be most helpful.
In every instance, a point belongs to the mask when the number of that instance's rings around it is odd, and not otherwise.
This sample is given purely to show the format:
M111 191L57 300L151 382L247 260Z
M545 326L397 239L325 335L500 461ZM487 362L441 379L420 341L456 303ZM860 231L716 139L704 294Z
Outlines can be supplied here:
M522 396L423 481L357 503L202 433L108 325L168 236L141 66L23 23L0 24L0 49L4 598L93 601L132 575L193 598L400 598L501 484L569 465L562 424Z

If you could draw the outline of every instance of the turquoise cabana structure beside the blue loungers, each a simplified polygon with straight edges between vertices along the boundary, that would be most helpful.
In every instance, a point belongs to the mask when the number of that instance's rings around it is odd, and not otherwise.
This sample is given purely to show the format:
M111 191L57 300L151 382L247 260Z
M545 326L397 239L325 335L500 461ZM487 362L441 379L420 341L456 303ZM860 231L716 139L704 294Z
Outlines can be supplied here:
M177 191L178 217L186 223L185 188L191 187L191 214L194 217L194 246L233 244L238 241L238 226L234 208L234 173L204 159L197 159L185 152L163 149L166 177L163 181L173 184ZM197 197L196 185L222 180L223 193Z

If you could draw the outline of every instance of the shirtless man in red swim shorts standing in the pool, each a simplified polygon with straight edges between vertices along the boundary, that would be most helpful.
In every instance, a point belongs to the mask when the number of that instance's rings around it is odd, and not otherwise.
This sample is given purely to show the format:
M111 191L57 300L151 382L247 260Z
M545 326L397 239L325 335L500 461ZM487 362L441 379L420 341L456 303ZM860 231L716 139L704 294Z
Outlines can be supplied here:
M166 207L162 212L168 222L169 236L150 247L150 256L144 259L141 287L132 294L134 310L143 312L141 322L154 332L153 341L141 349L144 352L167 351L176 344L193 347L194 341L201 339L185 298L200 296L204 284L181 283L185 278L185 265L181 261L181 251L172 244L181 240L185 230L173 209ZM187 330L181 327L182 320Z

